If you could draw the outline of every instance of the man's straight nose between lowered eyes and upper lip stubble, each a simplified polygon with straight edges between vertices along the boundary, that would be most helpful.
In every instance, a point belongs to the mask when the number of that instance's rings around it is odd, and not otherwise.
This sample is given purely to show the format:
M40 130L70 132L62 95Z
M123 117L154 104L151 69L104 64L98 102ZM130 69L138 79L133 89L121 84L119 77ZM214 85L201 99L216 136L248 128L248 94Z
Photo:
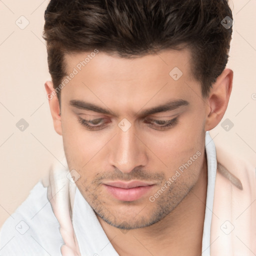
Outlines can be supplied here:
M117 134L110 145L109 163L123 173L135 167L145 166L147 162L146 146L136 134L134 126L123 131L117 127Z

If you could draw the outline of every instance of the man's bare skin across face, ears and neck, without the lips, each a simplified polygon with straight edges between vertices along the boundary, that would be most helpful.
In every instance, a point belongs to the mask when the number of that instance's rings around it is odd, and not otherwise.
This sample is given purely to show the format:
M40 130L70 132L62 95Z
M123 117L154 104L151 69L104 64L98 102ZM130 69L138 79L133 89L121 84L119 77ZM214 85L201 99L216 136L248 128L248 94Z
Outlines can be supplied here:
M67 73L87 54L66 55ZM63 136L68 167L79 173L78 189L121 256L201 254L205 131L214 128L226 110L233 72L224 69L203 98L190 60L188 50L135 59L98 52L61 88L61 109L52 82L45 82L46 92L53 95L50 111L55 131ZM176 80L169 74L174 67L182 71ZM183 103L177 105L177 100ZM169 101L171 109L142 112ZM94 108L85 109L84 102ZM125 131L118 126L123 118L130 124ZM166 123L171 125L163 126ZM166 185L190 157L196 159ZM153 185L139 198L125 201L107 190L109 180Z

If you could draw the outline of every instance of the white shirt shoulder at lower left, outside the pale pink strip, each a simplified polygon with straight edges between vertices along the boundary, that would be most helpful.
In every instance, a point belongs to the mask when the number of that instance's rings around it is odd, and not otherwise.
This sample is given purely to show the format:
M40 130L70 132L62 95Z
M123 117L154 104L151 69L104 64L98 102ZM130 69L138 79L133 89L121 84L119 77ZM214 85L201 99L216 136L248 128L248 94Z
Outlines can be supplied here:
M61 255L59 223L39 181L0 229L1 255Z

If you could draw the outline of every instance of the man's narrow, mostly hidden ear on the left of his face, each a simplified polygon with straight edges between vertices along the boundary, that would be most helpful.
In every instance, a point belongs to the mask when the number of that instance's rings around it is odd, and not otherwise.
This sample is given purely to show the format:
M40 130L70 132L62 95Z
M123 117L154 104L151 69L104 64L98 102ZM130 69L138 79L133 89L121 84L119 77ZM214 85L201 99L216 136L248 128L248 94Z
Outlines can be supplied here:
M44 87L47 93L47 99L49 101L50 113L53 120L54 129L59 135L62 135L60 107L52 81L46 81L44 83Z

